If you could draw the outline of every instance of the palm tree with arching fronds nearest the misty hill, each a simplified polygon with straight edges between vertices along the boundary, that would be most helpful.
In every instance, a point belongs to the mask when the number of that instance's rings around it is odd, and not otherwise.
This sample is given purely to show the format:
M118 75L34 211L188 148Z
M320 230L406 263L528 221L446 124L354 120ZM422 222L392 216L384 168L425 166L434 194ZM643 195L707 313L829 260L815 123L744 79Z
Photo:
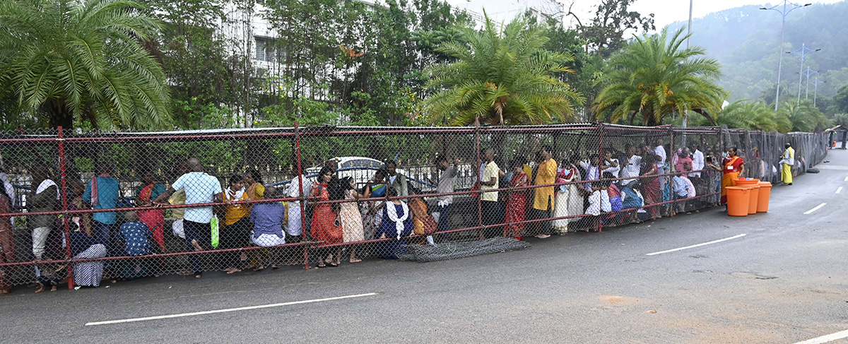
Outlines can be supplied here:
M703 58L700 47L681 47L685 40L682 30L669 38L663 29L636 37L616 53L606 71L607 86L594 100L598 119L633 124L640 117L641 125L658 125L688 110L715 124L710 114L719 111L726 97L716 85L720 66L715 59Z

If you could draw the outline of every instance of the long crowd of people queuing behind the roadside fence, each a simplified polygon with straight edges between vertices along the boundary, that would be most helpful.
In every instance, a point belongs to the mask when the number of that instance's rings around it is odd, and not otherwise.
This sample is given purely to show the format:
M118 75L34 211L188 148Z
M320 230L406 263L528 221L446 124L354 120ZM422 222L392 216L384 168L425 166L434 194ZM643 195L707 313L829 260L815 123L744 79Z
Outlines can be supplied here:
M781 163L791 166L794 151L787 148ZM482 234L518 240L547 238L574 230L599 230L609 223L674 216L696 208L690 206L695 203L724 203L724 187L733 186L745 169L736 148L717 155L692 145L678 148L670 157L667 149L657 141L653 146L581 155L544 146L533 155L517 155L502 169L495 163L494 149L485 148L480 152L481 164L473 167L477 184L471 190L473 197L479 197ZM721 165L716 164L718 157ZM435 194L423 194L392 160L365 183L339 177L338 165L331 160L314 180L298 175L287 185L266 186L259 172L248 170L229 176L222 187L217 177L204 172L198 158L190 158L178 164L175 176L179 177L170 186L157 180L153 171L142 171L142 185L134 198L139 208L122 213L110 211L119 208L120 202L113 166L98 164L87 183L67 179L68 209L95 212L28 216L31 257L36 261L33 280L37 291L44 291L56 290L69 270L77 286L99 286L104 276L112 283L158 276L165 261L153 254L169 250L204 252L187 255L181 272L196 278L203 276L204 269L226 274L277 269L298 263L293 247L282 245L304 240L320 244L310 253L318 267L335 267L342 259L358 263L366 255L399 258L410 244L438 246L448 241L445 232L452 227L460 160L439 155L435 164L439 171ZM48 169L35 166L31 176L28 212L61 209L59 185ZM788 181L791 184L790 172ZM8 186L8 178L3 182ZM0 194L0 213L13 211L14 196L8 189L3 187ZM720 189L721 198L697 198ZM434 201L432 208L425 196ZM268 201L279 198L290 202ZM166 211L173 219L170 232L184 242L181 249L167 245ZM10 221L0 221L3 262L16 261L11 227ZM66 227L70 237L64 234ZM410 239L412 234L418 235L416 239ZM70 266L45 263L61 261L68 252L72 258L93 260ZM138 258L98 260L118 256ZM200 257L217 258L214 264L208 262L212 259L201 264ZM11 290L13 274L13 267L0 267L0 293Z

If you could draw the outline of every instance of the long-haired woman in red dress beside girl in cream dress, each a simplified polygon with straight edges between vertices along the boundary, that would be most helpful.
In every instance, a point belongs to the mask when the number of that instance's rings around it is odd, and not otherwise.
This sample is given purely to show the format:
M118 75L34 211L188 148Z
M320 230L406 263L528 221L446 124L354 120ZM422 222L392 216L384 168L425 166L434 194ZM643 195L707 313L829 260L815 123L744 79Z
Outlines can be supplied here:
M317 241L322 241L324 244L338 244L343 241L342 225L338 219L338 213L333 209L330 203L320 203L330 200L330 180L332 180L332 169L329 167L321 168L318 174L318 180L312 185L310 196L315 197L315 210L312 212L312 230L310 235ZM326 265L332 267L338 266L332 259L332 252L328 248L318 248L318 267L323 268Z

